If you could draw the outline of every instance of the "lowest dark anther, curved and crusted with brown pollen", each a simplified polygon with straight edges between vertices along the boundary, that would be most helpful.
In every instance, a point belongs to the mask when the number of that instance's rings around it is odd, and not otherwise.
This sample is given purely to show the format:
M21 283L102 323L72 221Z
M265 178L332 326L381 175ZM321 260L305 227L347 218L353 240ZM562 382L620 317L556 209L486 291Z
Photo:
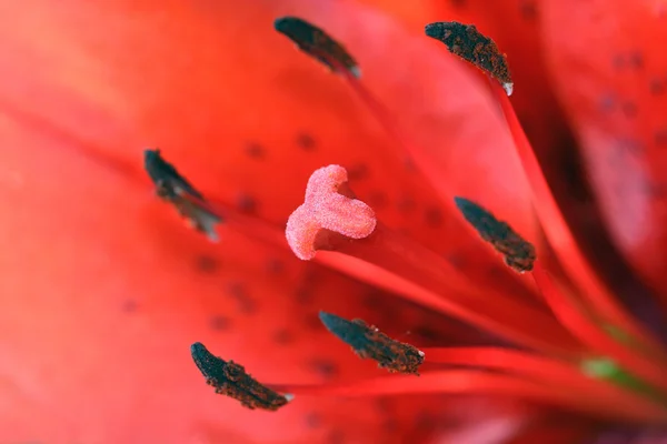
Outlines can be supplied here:
M206 377L206 383L215 387L216 393L233 397L240 401L245 407L275 412L293 397L292 395L283 396L260 384L246 373L242 365L213 356L199 342L190 346L190 354L195 364Z

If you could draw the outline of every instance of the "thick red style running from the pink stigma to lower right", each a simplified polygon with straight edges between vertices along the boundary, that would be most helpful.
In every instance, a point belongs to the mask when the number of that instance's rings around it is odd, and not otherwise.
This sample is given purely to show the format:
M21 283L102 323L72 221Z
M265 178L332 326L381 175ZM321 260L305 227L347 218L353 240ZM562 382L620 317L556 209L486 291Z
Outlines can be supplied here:
M580 352L547 313L494 290L476 292L446 272L450 265L444 258L379 223L367 239L342 243L336 252L320 251L316 260L524 346L566 356Z

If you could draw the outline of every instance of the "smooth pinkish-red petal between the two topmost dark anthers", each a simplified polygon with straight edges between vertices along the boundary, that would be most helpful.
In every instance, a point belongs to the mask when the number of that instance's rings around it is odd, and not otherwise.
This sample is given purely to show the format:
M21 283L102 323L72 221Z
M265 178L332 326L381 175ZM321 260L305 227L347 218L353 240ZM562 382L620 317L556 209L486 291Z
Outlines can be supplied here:
M390 50L376 54L370 52L372 49L360 49L378 60L375 63L369 60L370 68L388 63L388 56L397 67L396 80L387 81L387 74L382 73L385 79L372 78L371 88L386 98L392 109L399 110L401 123L411 129L415 149L425 159L420 165L425 173L439 190L447 186L471 193L475 195L470 198L481 198L489 208L502 209L500 214L508 214L514 224L520 225L527 235L531 234L534 221L526 183L515 160L511 139L496 104L488 97L484 78L438 43L422 42L424 26L436 20L468 20L485 31L501 30L505 21L499 19L498 11L487 16L482 4L476 8L474 2L466 8L428 0L412 2L409 7L397 1L362 2L387 10L406 22L405 31L390 32L389 40L385 40L385 47ZM529 33L529 30L525 32ZM489 34L496 38L494 32ZM524 28L520 34L524 36ZM401 47L409 52L400 51ZM521 61L520 58L517 60ZM432 88L425 91L421 84L407 82L402 87L406 93L396 94L396 87L405 78L400 67L410 67L412 77ZM539 111L532 114L539 115L542 110ZM435 171L440 172L439 176ZM480 176L484 181L478 180ZM439 182L448 183L440 185Z

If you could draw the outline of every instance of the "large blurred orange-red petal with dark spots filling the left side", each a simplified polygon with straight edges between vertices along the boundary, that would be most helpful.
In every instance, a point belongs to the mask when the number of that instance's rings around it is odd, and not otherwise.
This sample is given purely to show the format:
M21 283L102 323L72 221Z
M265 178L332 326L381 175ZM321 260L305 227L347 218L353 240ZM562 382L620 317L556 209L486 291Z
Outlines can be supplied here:
M326 159L367 163L372 181L359 189L427 208L422 185L381 160L386 141L342 84L278 43L278 11L238 4L0 8L0 416L11 424L0 441L374 442L441 407L399 400L394 414L369 400L296 400L277 414L249 412L216 396L190 362L201 341L260 381L322 380L330 369L349 379L376 370L312 327L320 307L404 332L441 324L384 293L365 306L369 287L225 230L212 246L137 182L141 149L157 144L205 193L252 195L280 220ZM301 131L315 152L298 148ZM266 160L245 154L256 140ZM398 432L381 427L395 418Z

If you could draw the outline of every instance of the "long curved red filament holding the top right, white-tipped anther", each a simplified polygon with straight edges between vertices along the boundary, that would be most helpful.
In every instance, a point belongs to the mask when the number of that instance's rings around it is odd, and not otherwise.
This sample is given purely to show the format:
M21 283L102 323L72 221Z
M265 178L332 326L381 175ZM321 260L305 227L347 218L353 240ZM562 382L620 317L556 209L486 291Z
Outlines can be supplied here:
M586 260L560 212L509 98L495 80L489 78L489 83L496 100L500 104L515 141L517 154L530 183L535 210L542 230L561 260L568 275L579 285L583 296L596 309L601 319L634 336L636 345L639 345L645 354L653 356L653 359L658 357L667 363L667 356L659 341L617 303L606 284Z

